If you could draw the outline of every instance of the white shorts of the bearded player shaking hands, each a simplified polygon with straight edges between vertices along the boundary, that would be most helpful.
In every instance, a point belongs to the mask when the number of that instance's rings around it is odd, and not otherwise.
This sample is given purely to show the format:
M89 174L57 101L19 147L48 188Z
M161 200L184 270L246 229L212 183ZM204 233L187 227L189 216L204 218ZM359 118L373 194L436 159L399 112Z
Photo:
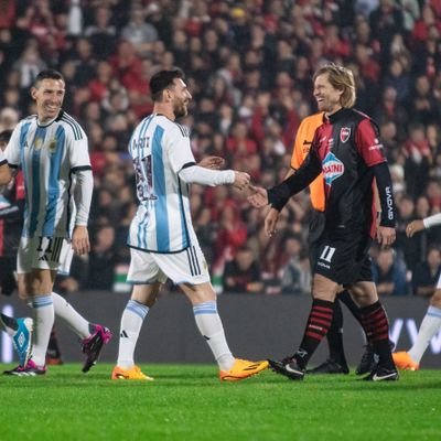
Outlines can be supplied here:
M130 248L127 281L133 284L161 282L201 284L209 282L208 266L201 247L191 246L176 254L158 254Z

